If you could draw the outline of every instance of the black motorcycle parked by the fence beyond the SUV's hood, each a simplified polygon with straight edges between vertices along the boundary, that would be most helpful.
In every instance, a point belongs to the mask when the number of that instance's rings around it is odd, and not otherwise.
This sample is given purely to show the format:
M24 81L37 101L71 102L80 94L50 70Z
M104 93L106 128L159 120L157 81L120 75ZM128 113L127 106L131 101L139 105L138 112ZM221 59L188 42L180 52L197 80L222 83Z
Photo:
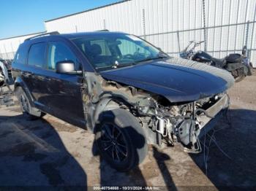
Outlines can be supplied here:
M246 46L243 47L241 54L233 53L227 55L225 58L214 58L207 52L201 50L195 52L195 47L203 42L204 41L190 41L189 45L181 51L180 57L230 71L236 82L240 82L244 77L252 75L252 63L249 63L249 60L246 57Z

